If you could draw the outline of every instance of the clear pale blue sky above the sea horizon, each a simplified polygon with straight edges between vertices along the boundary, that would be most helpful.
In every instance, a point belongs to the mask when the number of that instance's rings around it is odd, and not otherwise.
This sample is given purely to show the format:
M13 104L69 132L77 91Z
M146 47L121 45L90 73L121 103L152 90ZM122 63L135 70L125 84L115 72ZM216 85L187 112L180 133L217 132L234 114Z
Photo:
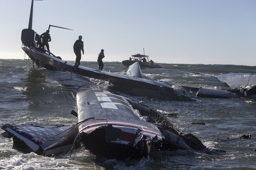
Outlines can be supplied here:
M20 34L28 28L31 0L0 0L0 58L24 59ZM50 50L74 61L129 59L143 53L156 63L256 65L254 0L44 0L34 1L33 30L52 28Z

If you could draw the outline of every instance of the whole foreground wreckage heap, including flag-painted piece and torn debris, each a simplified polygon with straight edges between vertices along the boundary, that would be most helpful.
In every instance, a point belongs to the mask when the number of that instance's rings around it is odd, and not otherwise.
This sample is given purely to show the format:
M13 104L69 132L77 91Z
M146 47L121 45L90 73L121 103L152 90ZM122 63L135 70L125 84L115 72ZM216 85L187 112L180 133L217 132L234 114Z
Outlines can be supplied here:
M183 140L185 136L155 125L152 114L158 113L110 91L81 87L77 107L77 115L72 112L78 117L74 126L5 124L2 135L13 138L13 148L44 156L65 154L80 144L97 157L118 160L147 157L151 147L158 150L205 148L198 139L201 148L189 147ZM147 116L142 116L137 109Z

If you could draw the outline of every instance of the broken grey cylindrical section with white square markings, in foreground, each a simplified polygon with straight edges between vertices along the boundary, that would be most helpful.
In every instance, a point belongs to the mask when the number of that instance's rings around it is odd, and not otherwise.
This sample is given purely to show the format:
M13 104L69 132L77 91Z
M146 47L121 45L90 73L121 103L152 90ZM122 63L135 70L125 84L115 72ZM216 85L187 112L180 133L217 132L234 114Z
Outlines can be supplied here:
M159 129L141 120L122 96L81 88L77 106L80 141L98 157L139 159L148 155L152 143L162 140Z

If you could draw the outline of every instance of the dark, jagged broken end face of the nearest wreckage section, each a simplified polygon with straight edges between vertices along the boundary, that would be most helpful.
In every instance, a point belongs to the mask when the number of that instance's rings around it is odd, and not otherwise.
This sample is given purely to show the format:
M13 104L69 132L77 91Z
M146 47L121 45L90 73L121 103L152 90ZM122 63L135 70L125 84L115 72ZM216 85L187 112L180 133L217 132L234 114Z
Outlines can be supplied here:
M80 141L84 147L100 158L124 160L147 157L151 148L147 137L138 136L136 131L139 129L136 129L135 133L125 132L125 129L129 130L112 125L100 127L89 134L80 133Z

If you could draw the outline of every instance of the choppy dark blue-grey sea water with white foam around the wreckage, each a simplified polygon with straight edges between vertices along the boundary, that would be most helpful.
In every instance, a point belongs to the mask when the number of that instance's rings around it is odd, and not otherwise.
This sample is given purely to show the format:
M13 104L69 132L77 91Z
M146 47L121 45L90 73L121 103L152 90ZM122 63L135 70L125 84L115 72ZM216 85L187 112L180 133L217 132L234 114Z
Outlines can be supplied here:
M81 65L97 68L96 62ZM216 77L231 72L256 73L256 66L162 64L161 69L142 69L151 79L189 87L226 89ZM120 62L104 62L104 70L121 73ZM83 85L104 84L99 80L33 68L32 61L0 59L0 124L73 125L77 118L76 90ZM209 149L222 152L152 151L137 162L107 160L94 162L84 148L67 155L44 157L12 149L12 139L0 135L0 169L256 169L256 101L248 99L199 98L196 101L161 101L131 96L135 101L157 109L182 134L196 135ZM205 125L191 124L202 122ZM3 132L3 130L0 130ZM239 138L251 134L251 139Z

